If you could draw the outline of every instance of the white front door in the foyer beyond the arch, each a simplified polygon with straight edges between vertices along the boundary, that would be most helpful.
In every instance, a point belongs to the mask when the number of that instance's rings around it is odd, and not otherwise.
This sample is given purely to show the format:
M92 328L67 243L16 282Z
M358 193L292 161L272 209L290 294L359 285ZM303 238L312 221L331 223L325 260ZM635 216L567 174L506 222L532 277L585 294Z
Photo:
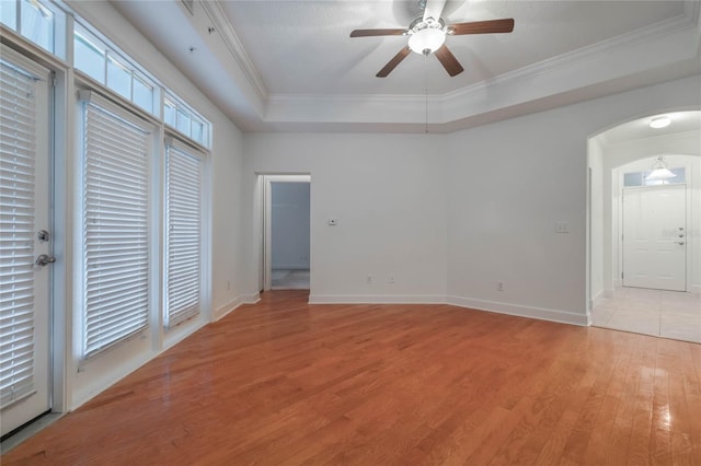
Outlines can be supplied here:
M686 291L686 185L623 189L623 286Z

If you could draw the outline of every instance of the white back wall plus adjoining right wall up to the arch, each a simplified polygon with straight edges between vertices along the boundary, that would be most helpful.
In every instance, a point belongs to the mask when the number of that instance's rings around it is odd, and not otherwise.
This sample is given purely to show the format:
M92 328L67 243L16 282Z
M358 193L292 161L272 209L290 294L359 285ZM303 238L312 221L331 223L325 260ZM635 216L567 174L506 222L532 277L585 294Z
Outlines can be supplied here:
M243 202L258 173L311 173L312 302L438 301L586 324L587 141L699 107L699 90L693 77L447 136L246 133Z

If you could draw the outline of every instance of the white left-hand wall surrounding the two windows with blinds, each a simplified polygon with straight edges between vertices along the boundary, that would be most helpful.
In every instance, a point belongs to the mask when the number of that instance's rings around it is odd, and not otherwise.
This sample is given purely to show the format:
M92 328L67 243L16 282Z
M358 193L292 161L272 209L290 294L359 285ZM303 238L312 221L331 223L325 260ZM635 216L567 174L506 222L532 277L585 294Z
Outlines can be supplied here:
M226 313L250 296L242 293L245 271L240 256L241 241L238 237L241 225L240 180L242 170L242 135L205 95L195 88L173 65L171 65L148 40L139 34L108 2L70 2L81 16L97 27L116 46L120 47L137 62L147 67L157 78L173 89L197 112L209 119L214 126L214 142L209 159L207 184L211 187L211 197L205 199L206 210L209 211L211 236L204 238L211 254L211 269L206 272L210 280L210 293L206 293L203 314L179 326L173 331L163 331L160 326L151 326L151 330L141 338L134 338L113 350L81 362L78 358L80 345L77 341L79 331L66 334L66 348L71 351L67 368L66 391L68 408L74 408L94 396L100 391L122 378L134 369L148 361L164 348L174 345L183 337L196 330L212 318ZM71 85L71 84L69 84ZM71 113L72 115L72 113ZM76 170L73 150L68 151L67 173L58 174L71 179L70 172ZM66 183L73 187L74 184ZM77 193L68 193L68 199L76 199ZM71 219L72 207L68 207L66 228L68 237L73 235ZM69 248L70 249L70 248ZM73 247L79 251L79 245ZM72 270L68 276L76 277ZM156 283L154 293L159 286ZM78 299L78 296L76 296ZM76 323L73 310L78 303L70 299L66 302L66 321ZM154 310L161 312L161 310Z

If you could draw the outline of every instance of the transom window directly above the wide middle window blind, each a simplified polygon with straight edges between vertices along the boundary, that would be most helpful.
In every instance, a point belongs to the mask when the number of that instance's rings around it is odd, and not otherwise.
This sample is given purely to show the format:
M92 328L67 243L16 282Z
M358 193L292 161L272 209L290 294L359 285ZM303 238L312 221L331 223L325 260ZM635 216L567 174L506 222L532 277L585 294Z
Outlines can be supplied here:
M159 88L156 82L116 47L107 45L78 24L73 31L73 66L149 114L158 116Z

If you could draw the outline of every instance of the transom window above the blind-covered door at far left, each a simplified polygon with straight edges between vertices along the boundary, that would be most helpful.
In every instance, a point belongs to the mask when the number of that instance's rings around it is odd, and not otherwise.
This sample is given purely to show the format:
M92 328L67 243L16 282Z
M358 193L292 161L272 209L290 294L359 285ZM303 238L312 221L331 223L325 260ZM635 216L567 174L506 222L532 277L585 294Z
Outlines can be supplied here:
M43 49L66 58L66 13L53 2L1 0L0 22Z

